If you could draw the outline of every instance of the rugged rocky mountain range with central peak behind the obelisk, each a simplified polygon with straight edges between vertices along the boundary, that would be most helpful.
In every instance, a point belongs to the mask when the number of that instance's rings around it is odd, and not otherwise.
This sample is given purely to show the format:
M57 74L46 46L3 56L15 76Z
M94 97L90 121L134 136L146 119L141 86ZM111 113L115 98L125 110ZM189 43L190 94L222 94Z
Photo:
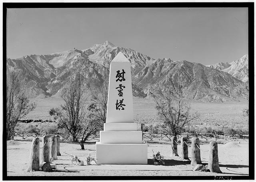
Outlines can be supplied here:
M244 83L226 72L188 61L153 59L109 41L84 50L74 48L50 55L7 59L7 65L27 73L26 81L34 97L52 96L64 86L70 73L78 69L84 78L99 87L119 51L131 62L134 96L146 97L149 92L165 92L166 89L174 91L178 74L194 100L224 102L244 96L244 93L236 92L236 87Z

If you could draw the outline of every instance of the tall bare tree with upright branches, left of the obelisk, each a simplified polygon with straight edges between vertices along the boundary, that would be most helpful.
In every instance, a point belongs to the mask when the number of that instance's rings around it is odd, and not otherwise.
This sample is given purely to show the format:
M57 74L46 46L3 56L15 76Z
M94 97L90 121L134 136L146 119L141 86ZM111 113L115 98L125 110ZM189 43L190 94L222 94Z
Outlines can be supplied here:
M59 126L64 127L72 136L72 141L78 141L83 130L82 123L86 121L86 102L89 94L85 85L85 79L79 71L71 74L60 93L64 104L49 111L50 115L60 121Z

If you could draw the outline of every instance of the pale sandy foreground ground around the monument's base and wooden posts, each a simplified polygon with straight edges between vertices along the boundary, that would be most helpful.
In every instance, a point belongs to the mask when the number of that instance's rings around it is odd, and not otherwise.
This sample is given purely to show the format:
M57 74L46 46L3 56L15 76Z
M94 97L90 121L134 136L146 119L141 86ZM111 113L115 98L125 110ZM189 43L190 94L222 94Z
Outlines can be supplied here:
M218 141L218 158L222 174L213 172L193 172L194 166L190 161L182 161L180 157L170 157L168 143L148 144L148 165L99 165L92 161L92 165L76 166L70 161L70 155L77 155L81 160L89 153L95 155L95 144L85 144L85 150L80 145L72 143L60 143L60 153L57 169L53 172L25 172L28 167L31 141L8 141L7 142L7 175L8 176L234 176L248 175L248 140ZM204 165L208 164L209 142L200 141L201 160ZM42 142L40 143L42 145ZM165 165L154 166L152 149L164 156ZM178 154L180 145L178 146ZM188 147L188 157L191 157L191 147ZM191 158L190 158L191 159ZM17 165L18 164L18 165Z

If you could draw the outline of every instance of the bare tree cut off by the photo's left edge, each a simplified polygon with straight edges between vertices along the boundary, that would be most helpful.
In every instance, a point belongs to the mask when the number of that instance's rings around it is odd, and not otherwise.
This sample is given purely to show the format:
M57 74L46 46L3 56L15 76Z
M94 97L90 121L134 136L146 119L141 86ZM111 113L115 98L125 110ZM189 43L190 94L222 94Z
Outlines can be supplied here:
M25 76L21 70L6 67L6 138L14 139L14 129L18 121L36 107L29 104Z

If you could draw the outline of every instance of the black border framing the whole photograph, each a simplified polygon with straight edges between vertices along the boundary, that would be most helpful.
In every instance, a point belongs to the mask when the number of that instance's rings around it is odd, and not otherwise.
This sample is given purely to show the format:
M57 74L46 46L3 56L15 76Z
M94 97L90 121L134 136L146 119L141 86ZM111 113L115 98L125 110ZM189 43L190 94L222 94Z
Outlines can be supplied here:
M168 3L3 3L3 135L2 135L2 180L216 180L216 176L7 176L6 151L6 18L7 8L248 8L248 58L249 58L249 176L232 176L233 180L254 179L254 2L168 2ZM218 174L216 174L218 175ZM223 176L228 179L230 176Z

